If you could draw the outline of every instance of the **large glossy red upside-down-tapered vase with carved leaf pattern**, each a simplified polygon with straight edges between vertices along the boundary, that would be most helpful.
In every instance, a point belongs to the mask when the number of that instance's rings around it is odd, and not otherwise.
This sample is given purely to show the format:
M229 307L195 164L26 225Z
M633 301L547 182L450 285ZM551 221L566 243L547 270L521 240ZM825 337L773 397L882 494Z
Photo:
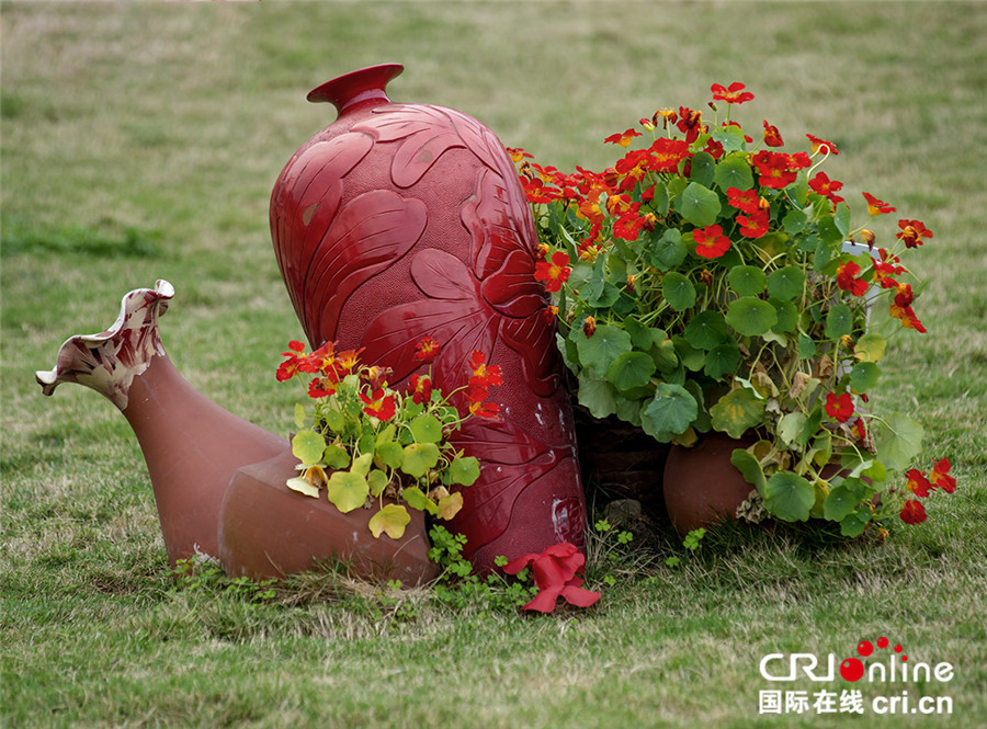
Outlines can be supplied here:
M365 348L363 360L424 372L415 345L442 344L436 386L466 384L474 350L503 369L500 417L467 421L457 445L484 464L452 528L480 570L494 558L583 545L586 503L572 413L558 376L536 235L513 164L478 121L396 104L399 66L322 84L339 117L292 157L271 197L271 232L313 346ZM462 402L460 403L463 405Z

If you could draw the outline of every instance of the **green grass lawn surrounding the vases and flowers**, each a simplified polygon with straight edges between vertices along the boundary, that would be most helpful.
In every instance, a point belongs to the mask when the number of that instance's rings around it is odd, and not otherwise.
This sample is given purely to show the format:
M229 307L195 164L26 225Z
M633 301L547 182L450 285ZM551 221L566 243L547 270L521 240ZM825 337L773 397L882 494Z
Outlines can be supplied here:
M3 726L987 725L987 7L2 2L0 19ZM653 550L597 549L603 599L551 617L330 578L269 600L177 583L124 419L83 388L43 398L33 372L167 278L179 369L286 432L295 392L272 375L300 328L268 196L334 117L308 90L384 61L406 66L394 100L469 113L561 169L604 166L604 136L713 82L746 82L786 140L833 140L848 200L934 231L911 259L929 333L894 342L881 400L923 423L956 493L884 544L734 529L692 555L659 525ZM955 676L865 697L952 714L759 714L762 690L847 685L771 684L763 656L842 660L878 636Z

